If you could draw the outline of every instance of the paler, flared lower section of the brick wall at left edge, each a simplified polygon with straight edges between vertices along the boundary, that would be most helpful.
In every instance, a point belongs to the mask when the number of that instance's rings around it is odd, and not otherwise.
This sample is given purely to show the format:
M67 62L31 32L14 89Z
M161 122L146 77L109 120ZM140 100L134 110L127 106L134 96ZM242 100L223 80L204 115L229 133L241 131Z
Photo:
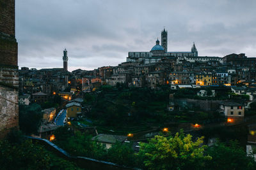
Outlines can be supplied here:
M0 138L19 128L18 90L0 85Z

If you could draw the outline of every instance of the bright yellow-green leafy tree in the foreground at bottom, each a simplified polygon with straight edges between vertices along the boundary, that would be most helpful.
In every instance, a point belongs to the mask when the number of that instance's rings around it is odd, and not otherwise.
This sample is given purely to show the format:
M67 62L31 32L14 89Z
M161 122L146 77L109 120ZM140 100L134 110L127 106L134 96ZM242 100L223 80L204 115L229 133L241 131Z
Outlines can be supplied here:
M149 143L141 143L138 156L148 169L203 169L205 160L204 137L192 141L190 134L184 136L181 132L175 136L155 136Z

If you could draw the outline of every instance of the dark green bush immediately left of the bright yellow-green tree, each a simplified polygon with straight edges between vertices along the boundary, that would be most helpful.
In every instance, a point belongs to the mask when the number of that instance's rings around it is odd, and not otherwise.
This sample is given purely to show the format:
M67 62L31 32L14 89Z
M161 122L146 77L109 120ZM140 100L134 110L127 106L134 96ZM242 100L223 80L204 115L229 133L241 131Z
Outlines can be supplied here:
M134 157L134 150L129 144L115 143L108 150L109 162L114 162L116 164L125 165L132 167L136 163L136 158Z

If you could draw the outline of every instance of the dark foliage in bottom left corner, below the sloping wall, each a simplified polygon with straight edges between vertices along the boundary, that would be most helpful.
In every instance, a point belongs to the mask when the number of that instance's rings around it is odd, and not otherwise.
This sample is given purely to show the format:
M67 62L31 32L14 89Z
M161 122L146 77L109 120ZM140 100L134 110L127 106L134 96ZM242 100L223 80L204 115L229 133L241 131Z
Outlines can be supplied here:
M0 141L1 169L78 169L72 162L56 157L29 139L19 141L22 142Z

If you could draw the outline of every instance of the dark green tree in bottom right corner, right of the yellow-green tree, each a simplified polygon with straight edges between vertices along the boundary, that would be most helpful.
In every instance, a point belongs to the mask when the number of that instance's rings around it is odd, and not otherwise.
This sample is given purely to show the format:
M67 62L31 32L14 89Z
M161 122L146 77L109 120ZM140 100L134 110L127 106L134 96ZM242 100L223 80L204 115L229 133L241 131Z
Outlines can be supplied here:
M237 141L228 144L218 142L207 148L205 154L212 157L207 169L256 169L253 157L247 156Z

